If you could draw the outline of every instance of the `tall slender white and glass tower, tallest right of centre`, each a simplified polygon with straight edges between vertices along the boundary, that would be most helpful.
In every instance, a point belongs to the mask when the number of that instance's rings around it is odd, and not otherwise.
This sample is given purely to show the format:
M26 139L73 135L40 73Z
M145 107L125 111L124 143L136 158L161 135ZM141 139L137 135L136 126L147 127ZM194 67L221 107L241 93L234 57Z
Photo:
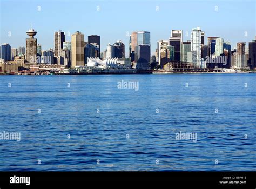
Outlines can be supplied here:
M191 32L191 52L192 62L197 68L203 68L201 65L201 28L193 28Z

